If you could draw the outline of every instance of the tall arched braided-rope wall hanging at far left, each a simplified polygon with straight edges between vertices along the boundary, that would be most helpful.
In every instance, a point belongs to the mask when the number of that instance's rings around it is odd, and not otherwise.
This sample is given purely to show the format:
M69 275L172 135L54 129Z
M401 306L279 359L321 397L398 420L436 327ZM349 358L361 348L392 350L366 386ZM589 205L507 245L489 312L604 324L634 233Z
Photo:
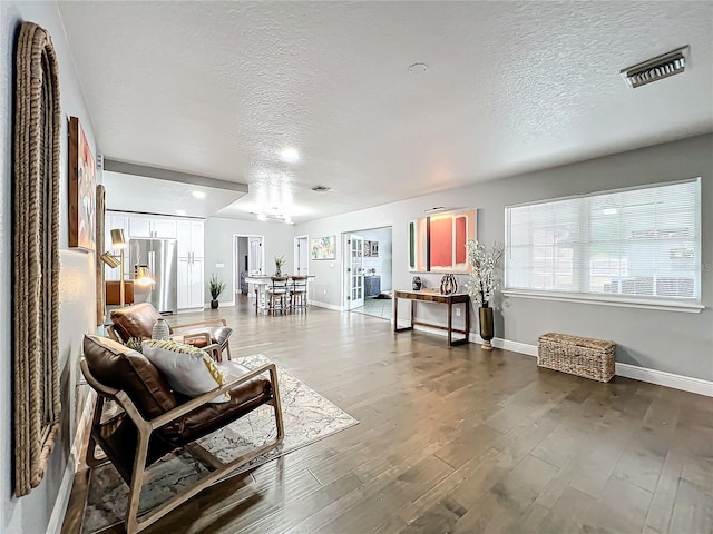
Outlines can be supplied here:
M12 195L13 491L45 476L59 429L59 85L47 31L17 43Z

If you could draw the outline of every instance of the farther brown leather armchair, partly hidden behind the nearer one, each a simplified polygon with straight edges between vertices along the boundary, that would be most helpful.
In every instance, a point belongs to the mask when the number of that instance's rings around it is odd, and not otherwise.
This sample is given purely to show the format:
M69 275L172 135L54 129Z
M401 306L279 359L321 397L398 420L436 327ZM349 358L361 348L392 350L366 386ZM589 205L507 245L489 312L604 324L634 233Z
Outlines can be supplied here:
M111 339L119 343L126 343L130 337L150 339L152 329L160 317L162 315L149 303L113 309L110 314L113 324L107 326L107 333ZM195 347L212 352L213 347L209 346L216 344L219 347L219 350L216 350L216 359L222 359L224 352L231 359L228 342L233 329L227 326L225 319L216 317L185 325L169 325L169 328L172 336L180 336L185 343Z

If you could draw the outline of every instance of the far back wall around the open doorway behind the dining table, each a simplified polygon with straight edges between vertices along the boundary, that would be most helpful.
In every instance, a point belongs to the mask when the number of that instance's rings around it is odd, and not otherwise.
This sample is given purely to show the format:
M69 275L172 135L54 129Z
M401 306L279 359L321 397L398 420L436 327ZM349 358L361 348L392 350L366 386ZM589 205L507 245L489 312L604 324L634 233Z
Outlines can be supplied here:
M215 273L225 281L225 291L218 299L221 303L233 303L235 283L233 279L233 236L235 234L263 236L265 247L265 274L275 270L275 256L284 256L286 264L283 273L292 273L294 265L294 227L284 222L260 222L212 217L205 221L205 301L211 301L208 280ZM216 267L223 264L224 267Z

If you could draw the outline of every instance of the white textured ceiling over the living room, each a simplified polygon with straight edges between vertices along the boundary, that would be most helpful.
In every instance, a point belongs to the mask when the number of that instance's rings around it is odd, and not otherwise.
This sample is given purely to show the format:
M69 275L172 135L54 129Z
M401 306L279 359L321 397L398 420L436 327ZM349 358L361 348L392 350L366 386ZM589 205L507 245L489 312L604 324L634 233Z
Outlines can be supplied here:
M100 151L250 184L228 217L302 221L713 131L712 2L59 9ZM683 44L685 73L626 87L622 68Z

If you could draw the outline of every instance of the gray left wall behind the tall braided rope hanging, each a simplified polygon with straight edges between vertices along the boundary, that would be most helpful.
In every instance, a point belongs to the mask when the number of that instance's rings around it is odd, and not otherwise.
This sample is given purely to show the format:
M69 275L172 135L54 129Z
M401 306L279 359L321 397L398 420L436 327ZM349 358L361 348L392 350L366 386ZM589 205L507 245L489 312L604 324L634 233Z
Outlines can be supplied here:
M19 24L32 21L52 36L59 62L62 110L60 132L60 355L62 384L61 429L39 487L22 498L11 497L11 138L14 40ZM0 532L43 533L55 506L61 477L69 458L75 433L77 362L85 333L95 332L94 255L68 249L67 224L67 123L68 116L79 117L89 144L94 147L91 120L84 102L74 61L65 40L65 30L55 2L0 2Z

